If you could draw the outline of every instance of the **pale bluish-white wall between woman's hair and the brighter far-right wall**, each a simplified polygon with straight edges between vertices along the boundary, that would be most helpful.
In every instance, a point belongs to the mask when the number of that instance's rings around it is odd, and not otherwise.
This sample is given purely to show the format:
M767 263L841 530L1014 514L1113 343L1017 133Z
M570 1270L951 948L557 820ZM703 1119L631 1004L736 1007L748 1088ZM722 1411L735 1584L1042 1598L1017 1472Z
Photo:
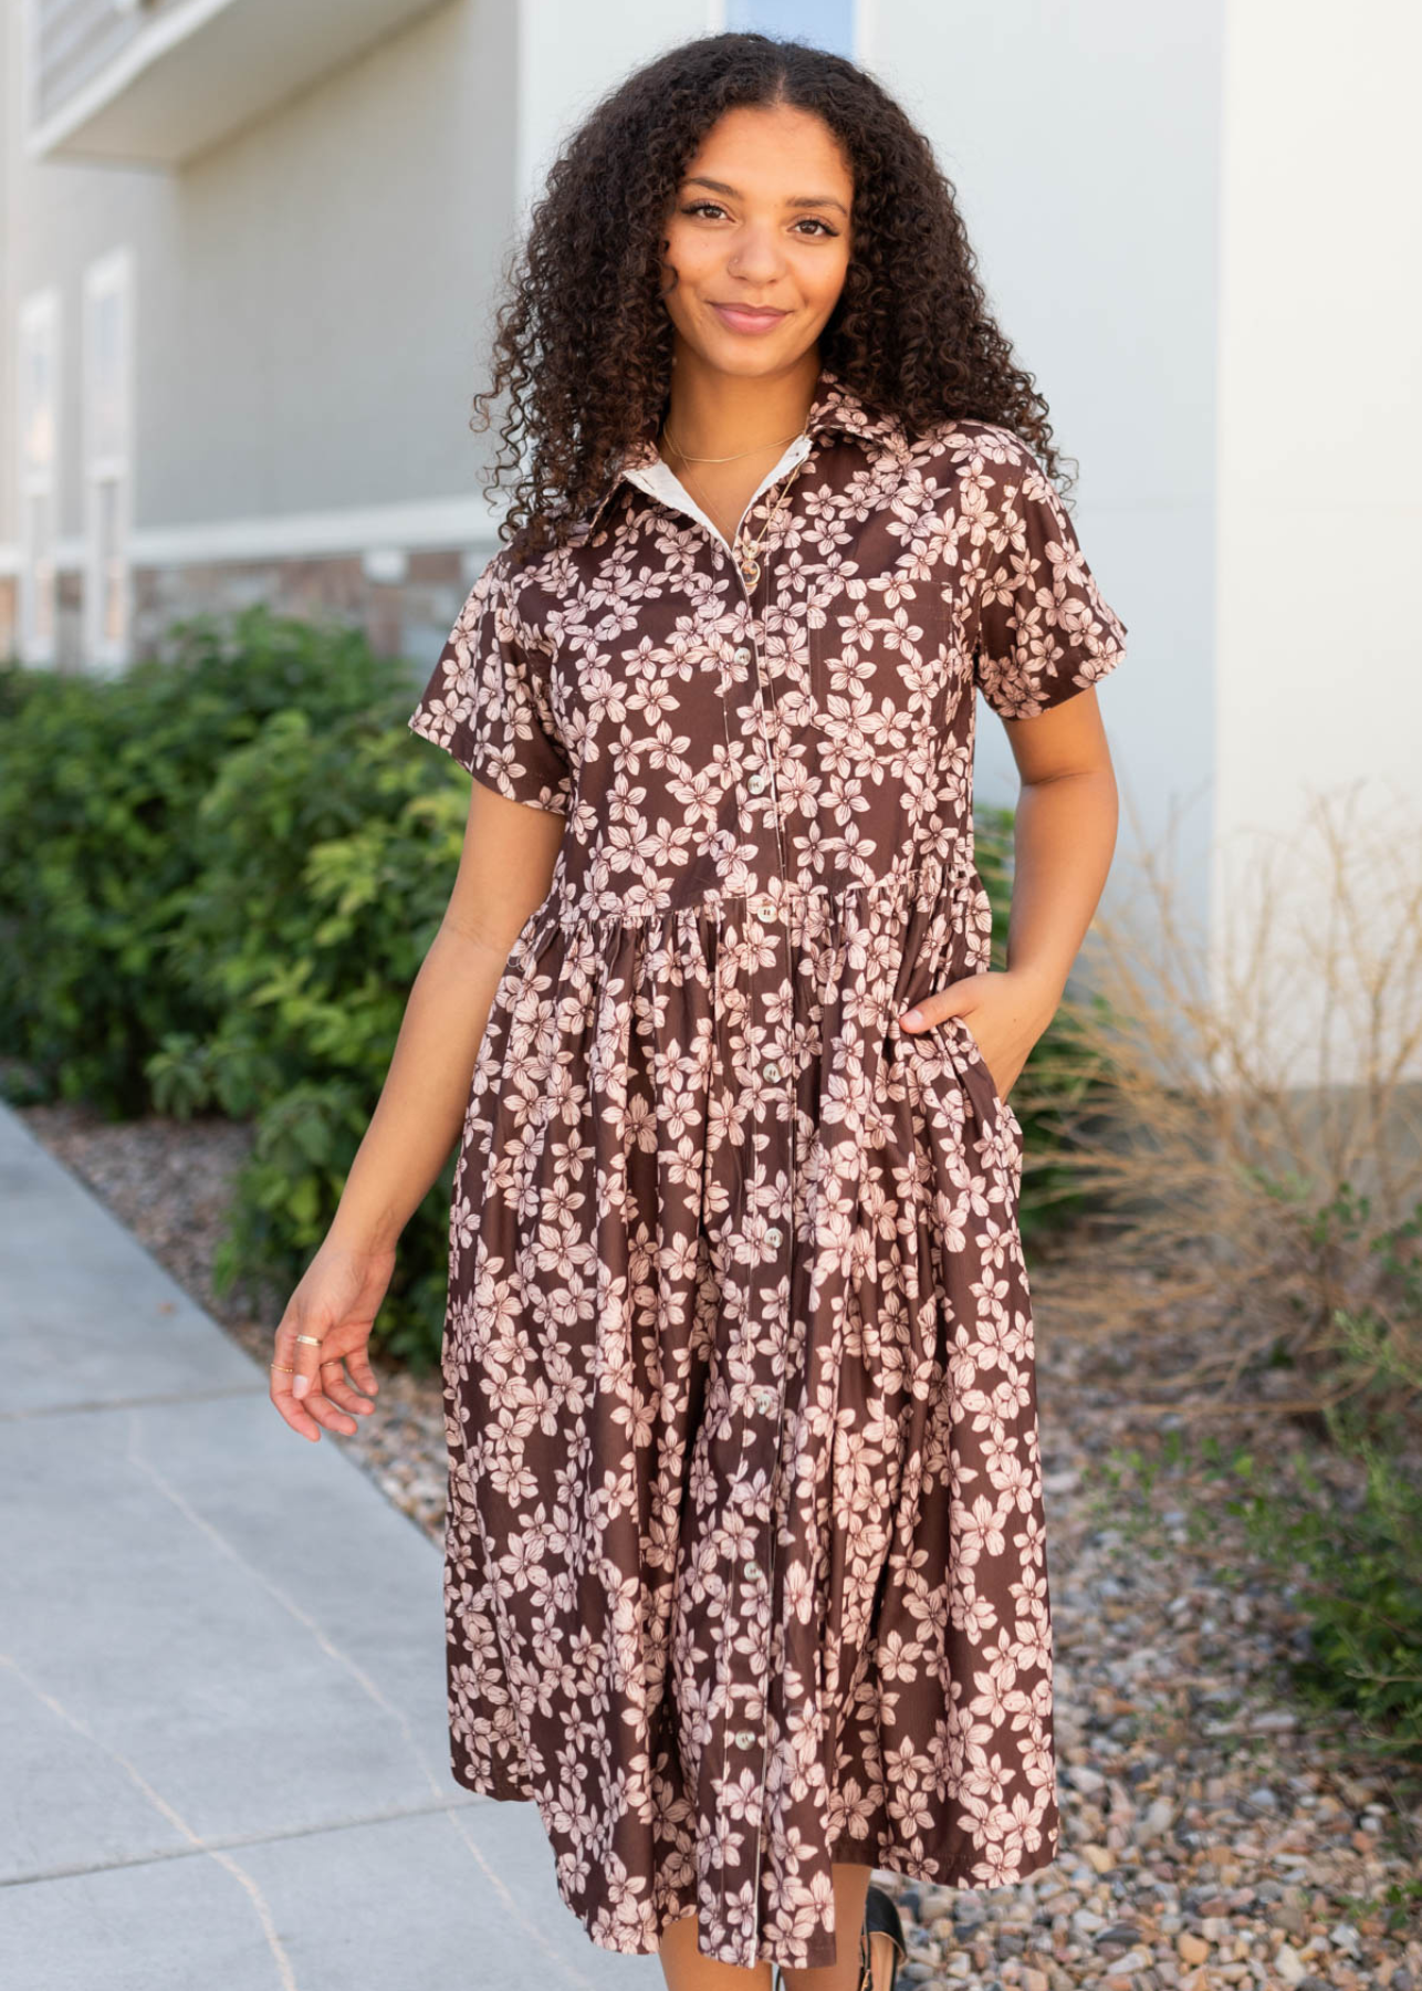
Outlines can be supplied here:
M1121 844L1169 850L1205 922L1223 0L870 8L864 60L956 187L994 315L1079 466L1071 516L1129 631L1097 693ZM986 711L978 739L978 796L1010 802L1012 755Z

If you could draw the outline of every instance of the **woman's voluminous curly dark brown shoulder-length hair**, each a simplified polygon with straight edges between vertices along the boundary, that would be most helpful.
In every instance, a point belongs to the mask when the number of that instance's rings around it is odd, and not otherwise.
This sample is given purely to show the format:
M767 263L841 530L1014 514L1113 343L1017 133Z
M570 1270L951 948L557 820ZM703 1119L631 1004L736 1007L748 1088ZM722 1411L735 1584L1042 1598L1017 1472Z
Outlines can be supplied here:
M508 390L500 472L526 470L502 532L516 557L564 542L592 512L623 450L655 436L671 382L661 303L661 223L723 111L815 111L854 179L854 247L819 336L872 414L924 434L960 416L1022 436L1062 476L1048 406L988 315L978 265L932 145L856 64L765 34L709 34L617 84L572 135L504 269L494 384L472 428ZM590 299L599 301L590 307Z

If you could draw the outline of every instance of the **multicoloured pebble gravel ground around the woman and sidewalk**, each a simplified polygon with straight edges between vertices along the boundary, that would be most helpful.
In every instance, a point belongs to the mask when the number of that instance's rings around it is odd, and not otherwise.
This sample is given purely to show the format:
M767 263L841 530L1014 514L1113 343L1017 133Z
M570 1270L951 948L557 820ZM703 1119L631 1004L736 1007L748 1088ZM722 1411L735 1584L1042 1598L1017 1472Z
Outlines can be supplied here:
M247 1151L243 1127L106 1125L74 1107L22 1117L269 1360L275 1320L253 1322L219 1300L207 1276L227 1181ZM1177 1420L1121 1414L1139 1376L1117 1382L1109 1358L1052 1332L1056 1280L1058 1266L1034 1254L1064 1850L1036 1880L990 1891L878 1876L908 1935L900 1987L1422 1991L1422 1923L1406 1893L1422 1860L1416 1782L1291 1700L1285 1660L1301 1627L1269 1571L1249 1569L1223 1481L1165 1471L1149 1493L1111 1501L1109 1453L1137 1445L1149 1457ZM1231 1420L1229 1438L1301 1441L1293 1428L1247 1418ZM376 1412L339 1443L438 1541L436 1376L380 1368ZM1310 1461L1324 1479L1334 1469L1316 1453ZM1209 1525L1191 1527L1191 1511ZM1227 1581L1225 1563L1245 1581ZM1400 1905L1390 1907L1390 1889Z

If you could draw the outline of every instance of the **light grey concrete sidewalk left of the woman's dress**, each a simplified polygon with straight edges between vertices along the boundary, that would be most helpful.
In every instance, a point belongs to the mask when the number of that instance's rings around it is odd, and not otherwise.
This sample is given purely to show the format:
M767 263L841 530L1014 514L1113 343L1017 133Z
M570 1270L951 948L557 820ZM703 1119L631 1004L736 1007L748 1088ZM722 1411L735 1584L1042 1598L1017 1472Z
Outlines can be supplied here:
M0 1985L663 1983L448 1770L440 1555L0 1107Z

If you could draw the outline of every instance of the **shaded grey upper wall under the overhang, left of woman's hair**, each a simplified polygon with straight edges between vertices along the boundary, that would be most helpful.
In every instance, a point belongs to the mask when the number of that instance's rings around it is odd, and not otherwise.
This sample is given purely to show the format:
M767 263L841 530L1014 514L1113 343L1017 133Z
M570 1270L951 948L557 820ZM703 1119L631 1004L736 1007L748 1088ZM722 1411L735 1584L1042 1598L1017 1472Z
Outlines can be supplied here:
M139 528L476 490L512 34L506 8L440 8L175 175Z

